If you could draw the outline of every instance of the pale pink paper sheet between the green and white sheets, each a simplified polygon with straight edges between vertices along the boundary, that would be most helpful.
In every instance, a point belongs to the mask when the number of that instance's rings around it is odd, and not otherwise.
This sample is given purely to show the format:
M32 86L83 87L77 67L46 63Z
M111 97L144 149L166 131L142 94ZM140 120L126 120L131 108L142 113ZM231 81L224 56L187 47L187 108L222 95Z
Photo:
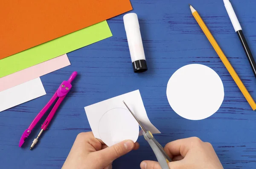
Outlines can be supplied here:
M70 65L70 61L67 57L67 54L64 54L46 62L42 62L38 65L34 65L30 68L26 68L8 76L4 76L0 78L0 91L20 85L24 82L28 82L32 79L64 68L68 65Z

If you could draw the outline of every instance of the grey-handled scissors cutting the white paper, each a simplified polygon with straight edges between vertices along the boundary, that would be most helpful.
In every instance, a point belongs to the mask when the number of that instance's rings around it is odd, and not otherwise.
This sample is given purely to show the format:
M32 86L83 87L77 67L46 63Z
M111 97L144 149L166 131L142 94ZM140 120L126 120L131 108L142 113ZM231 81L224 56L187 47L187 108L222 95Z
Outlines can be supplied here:
M139 119L132 113L131 109L127 106L125 101L123 101L125 106L128 108L128 110L131 112L131 114L134 116L138 124L140 125L140 128L143 131L143 135L146 141L148 141L148 144L151 146L151 149L153 150L154 154L157 157L157 161L160 163L160 166L162 169L169 169L168 163L172 161L172 159L166 154L166 152L163 150L163 147L157 142L157 140L154 138L152 133L148 130L145 130L143 125L140 123Z

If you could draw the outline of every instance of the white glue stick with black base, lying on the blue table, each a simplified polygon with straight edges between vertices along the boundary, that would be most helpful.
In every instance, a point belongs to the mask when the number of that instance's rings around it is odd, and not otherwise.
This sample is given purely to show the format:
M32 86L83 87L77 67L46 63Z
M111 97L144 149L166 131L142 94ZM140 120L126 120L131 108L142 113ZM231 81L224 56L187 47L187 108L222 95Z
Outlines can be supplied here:
M134 72L145 72L148 68L140 34L138 16L135 13L129 13L125 14L123 19Z

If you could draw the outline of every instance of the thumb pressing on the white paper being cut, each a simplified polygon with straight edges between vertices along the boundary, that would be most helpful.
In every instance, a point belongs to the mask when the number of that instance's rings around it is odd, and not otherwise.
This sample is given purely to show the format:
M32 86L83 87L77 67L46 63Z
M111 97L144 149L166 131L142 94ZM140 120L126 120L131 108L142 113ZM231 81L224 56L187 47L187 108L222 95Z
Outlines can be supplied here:
M113 146L102 149L97 153L99 153L98 155L104 159L104 161L102 161L104 163L103 165L108 165L109 163L112 163L114 160L116 160L116 158L119 158L122 155L130 152L133 148L134 142L131 140L125 140Z

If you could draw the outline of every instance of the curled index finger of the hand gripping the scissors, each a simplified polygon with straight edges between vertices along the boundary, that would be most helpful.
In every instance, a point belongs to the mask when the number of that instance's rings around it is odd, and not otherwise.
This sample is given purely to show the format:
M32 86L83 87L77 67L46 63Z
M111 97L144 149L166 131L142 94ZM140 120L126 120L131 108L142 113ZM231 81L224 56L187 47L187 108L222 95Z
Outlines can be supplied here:
M202 141L197 137L184 138L166 144L166 146L164 147L164 151L171 158L176 155L182 155L183 157L185 157L189 149L201 143Z

